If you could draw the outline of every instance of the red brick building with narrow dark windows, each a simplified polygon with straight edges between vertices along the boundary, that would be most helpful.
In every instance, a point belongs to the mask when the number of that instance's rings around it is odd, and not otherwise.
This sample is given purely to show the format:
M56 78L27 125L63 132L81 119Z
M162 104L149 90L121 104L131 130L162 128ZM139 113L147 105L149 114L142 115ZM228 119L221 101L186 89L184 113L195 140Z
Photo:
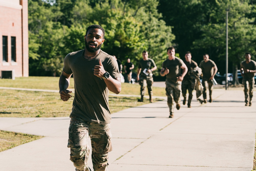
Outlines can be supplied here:
M28 77L28 0L0 0L0 77Z

